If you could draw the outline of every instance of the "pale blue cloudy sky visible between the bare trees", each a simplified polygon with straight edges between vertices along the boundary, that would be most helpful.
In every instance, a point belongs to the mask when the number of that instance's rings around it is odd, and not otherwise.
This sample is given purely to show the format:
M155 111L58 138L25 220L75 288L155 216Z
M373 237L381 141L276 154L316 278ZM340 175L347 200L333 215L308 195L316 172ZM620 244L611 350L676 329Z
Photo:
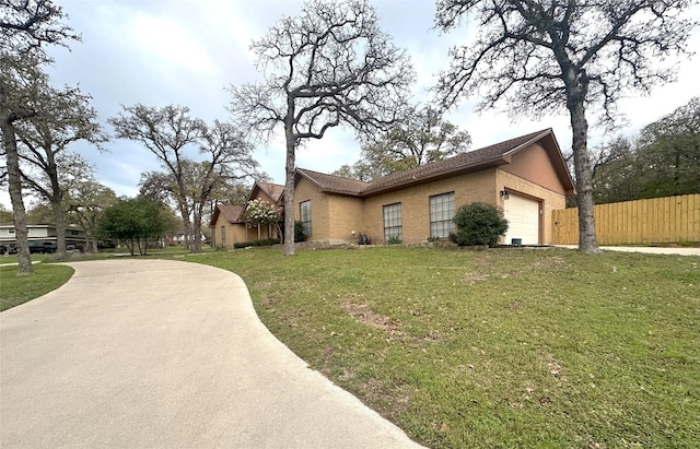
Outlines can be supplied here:
M226 120L231 84L254 82L256 71L253 39L265 35L283 15L299 13L296 0L59 0L69 15L70 26L82 34L82 43L70 51L51 50L54 83L79 84L93 96L93 106L105 123L121 110L120 105L141 103L149 106L179 104L188 106L195 117L206 121ZM434 1L375 0L372 2L382 28L394 43L408 50L418 73L417 99L427 98L425 90L435 83L435 74L447 66L451 46L468 40L472 31L463 27L450 35L432 29ZM697 9L697 7L696 7ZM696 10L696 17L700 13ZM696 31L690 48L700 48ZM697 73L700 57L679 62L678 82L657 87L649 97L628 98L620 104L629 126L620 132L634 133L642 126L670 113L693 95L700 95ZM511 122L504 111L472 113L477 98L463 102L447 119L466 129L472 147L489 145L542 128L553 128L563 151L570 146L569 119L565 115ZM600 131L592 130L592 142L599 142ZM137 143L113 140L108 152L88 145L79 150L95 166L97 178L118 194L138 192L140 174L158 169L155 156ZM284 145L281 138L258 145L255 156L276 182L284 180ZM298 166L332 172L359 157L360 146L350 130L332 130L322 141L312 141L298 153ZM9 205L7 193L0 197Z

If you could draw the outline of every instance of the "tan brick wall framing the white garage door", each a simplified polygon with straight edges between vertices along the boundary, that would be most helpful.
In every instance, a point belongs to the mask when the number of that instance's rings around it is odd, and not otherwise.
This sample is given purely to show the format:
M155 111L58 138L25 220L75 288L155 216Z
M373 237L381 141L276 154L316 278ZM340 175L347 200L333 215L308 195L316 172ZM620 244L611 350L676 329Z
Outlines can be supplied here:
M520 176L513 175L502 169L497 170L497 186L498 190L510 190L515 193L521 193L533 199L537 199L541 202L540 210L540 243L548 245L552 243L551 231L551 217L552 211L564 209L567 206L567 198L564 194L549 190L546 187L538 186L535 182L530 182ZM563 191L563 189L561 190ZM498 197L498 205L503 208L504 201L500 196Z

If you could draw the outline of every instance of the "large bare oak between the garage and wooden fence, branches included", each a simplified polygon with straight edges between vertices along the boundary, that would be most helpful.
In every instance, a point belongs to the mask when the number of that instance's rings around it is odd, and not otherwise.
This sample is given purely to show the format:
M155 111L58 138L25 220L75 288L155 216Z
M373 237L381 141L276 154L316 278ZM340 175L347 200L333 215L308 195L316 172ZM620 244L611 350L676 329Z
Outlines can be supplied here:
M480 109L508 102L513 116L565 109L571 119L579 205L579 248L599 252L593 217L588 119L618 118L629 92L649 92L674 79L664 58L688 54L696 23L684 19L695 1L439 0L436 25L478 24L477 37L451 51L438 92L444 107L480 95Z

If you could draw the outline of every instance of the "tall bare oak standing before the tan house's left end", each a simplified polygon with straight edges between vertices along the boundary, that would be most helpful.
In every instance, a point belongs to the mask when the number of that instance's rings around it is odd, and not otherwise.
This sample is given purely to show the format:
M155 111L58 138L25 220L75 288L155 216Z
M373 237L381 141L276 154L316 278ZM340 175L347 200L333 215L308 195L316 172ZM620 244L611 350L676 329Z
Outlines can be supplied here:
M252 49L265 80L232 86L231 111L244 129L285 142L284 253L294 253L295 151L308 139L349 126L359 134L393 123L404 110L413 70L378 26L366 0L313 0L284 17Z

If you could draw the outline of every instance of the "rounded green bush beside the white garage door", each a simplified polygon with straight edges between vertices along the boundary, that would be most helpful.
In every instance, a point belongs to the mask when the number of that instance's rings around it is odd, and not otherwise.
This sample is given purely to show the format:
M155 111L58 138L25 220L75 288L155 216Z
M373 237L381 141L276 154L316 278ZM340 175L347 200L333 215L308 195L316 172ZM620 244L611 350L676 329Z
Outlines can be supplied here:
M463 205L455 213L455 232L450 239L459 246L495 246L499 237L508 231L503 210L488 203Z

